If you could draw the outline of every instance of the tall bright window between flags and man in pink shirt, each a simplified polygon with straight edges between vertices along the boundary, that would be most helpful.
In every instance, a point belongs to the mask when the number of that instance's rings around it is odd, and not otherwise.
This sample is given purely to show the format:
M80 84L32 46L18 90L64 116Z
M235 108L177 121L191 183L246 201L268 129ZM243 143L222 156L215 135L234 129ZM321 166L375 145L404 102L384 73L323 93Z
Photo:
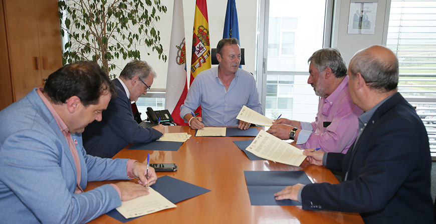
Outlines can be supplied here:
M307 84L307 59L324 47L328 0L260 0L258 89L265 116L313 121L319 97ZM329 12L327 12L328 14ZM264 21L264 22L263 22ZM265 47L267 46L267 47ZM264 87L266 86L266 87Z

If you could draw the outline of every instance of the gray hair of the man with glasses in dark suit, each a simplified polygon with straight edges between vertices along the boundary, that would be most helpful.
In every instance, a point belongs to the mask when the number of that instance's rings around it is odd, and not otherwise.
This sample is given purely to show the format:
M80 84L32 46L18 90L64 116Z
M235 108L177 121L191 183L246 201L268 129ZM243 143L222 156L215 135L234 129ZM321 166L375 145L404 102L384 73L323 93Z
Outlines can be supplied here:
M132 60L123 68L120 77L129 80L138 75L141 79L146 79L149 74L156 77L156 72L145 60Z

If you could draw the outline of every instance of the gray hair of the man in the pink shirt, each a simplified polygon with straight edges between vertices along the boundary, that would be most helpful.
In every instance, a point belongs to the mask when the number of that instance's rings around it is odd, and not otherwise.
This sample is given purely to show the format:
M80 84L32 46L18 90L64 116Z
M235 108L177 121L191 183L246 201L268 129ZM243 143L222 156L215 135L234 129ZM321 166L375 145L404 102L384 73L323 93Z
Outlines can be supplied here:
M347 75L345 60L342 58L339 50L335 48L319 49L309 57L307 62L311 62L319 72L323 71L326 67L330 67L337 78Z

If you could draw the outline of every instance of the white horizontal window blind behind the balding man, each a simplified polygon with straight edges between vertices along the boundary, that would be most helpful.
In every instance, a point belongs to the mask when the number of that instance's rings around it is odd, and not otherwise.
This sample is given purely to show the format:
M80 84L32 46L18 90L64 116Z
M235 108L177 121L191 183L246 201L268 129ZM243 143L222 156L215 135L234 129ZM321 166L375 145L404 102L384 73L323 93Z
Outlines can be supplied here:
M386 46L398 57L398 91L416 106L435 160L436 0L392 0Z

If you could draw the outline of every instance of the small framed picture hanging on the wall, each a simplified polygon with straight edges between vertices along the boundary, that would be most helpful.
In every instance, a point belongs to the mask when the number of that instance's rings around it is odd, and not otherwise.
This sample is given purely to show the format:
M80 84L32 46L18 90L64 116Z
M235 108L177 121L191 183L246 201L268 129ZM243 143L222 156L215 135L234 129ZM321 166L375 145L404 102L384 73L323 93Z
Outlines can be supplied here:
M374 34L377 0L351 0L349 34Z

